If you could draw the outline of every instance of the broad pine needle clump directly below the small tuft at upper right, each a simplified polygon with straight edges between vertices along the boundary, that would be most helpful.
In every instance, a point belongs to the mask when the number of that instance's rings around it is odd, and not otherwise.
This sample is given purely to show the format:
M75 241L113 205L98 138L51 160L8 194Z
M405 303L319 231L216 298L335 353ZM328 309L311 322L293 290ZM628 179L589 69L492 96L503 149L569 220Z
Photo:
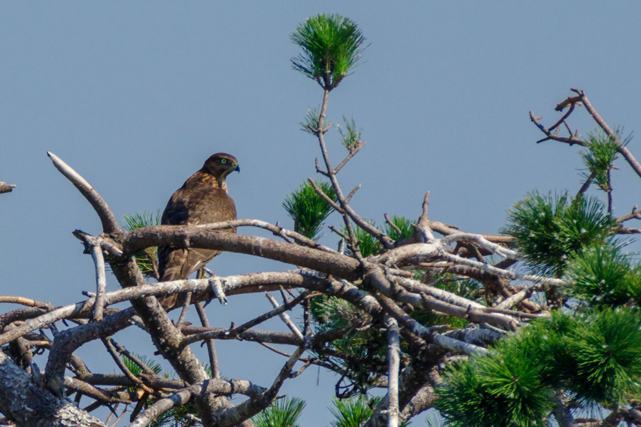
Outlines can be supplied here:
M567 259L581 248L609 243L615 225L595 197L571 200L567 194L553 197L533 191L512 206L501 231L517 239L532 271L560 275Z

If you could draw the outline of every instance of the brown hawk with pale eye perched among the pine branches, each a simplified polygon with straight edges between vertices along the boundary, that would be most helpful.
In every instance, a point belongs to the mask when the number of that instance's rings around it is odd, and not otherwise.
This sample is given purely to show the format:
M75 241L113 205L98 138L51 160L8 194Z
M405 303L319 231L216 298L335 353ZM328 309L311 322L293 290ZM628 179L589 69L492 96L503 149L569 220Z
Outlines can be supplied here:
M227 195L225 178L237 170L236 157L217 153L209 157L201 170L190 176L185 184L177 189L169 199L162 213L163 225L198 225L210 222L221 222L236 219L236 206ZM236 232L236 229L221 230ZM202 268L212 258L220 254L219 250L188 248L174 246L158 247L158 273L160 281L181 280ZM161 301L165 310L176 303L176 294L171 294Z

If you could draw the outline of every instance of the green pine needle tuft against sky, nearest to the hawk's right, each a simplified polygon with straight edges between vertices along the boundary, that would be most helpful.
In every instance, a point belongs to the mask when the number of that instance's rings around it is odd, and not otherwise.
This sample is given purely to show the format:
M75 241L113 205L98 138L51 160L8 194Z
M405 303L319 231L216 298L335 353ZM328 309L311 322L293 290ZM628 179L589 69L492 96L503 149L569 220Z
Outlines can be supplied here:
M329 182L317 181L316 184L331 200L338 200L334 188ZM313 240L319 238L323 222L331 213L331 206L314 191L312 184L307 181L285 198L283 207L290 218L294 220L294 231Z

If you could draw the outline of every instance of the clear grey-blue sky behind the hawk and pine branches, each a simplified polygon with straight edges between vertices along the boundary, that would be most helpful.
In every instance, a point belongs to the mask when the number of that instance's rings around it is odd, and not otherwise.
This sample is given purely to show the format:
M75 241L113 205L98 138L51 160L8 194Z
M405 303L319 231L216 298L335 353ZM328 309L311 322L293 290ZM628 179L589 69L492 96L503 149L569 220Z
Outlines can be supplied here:
M526 191L580 186L578 149L535 144L542 135L530 109L551 124L556 103L577 87L610 125L639 129L640 8L632 1L0 3L0 181L17 185L0 196L2 293L67 304L94 287L91 259L71 232L98 233L99 221L46 150L76 168L118 218L162 211L210 154L229 152L242 168L228 180L238 218L290 227L281 202L314 176L319 156L298 123L322 92L291 69L298 51L289 35L319 12L356 20L370 43L328 109L331 122L347 115L364 129L367 145L339 175L346 189L363 184L356 211L377 223L383 213L415 218L429 190L431 218L496 232ZM594 127L585 111L570 124L584 134ZM337 133L328 138L340 161ZM636 146L629 148L639 154ZM639 202L638 177L619 166L618 215ZM288 266L224 254L210 268L230 275ZM269 308L259 295L208 310L213 324L227 326ZM153 352L137 332L115 339ZM285 362L244 342L218 346L224 375L260 384ZM79 352L90 369L117 369L96 351ZM303 425L329 419L335 380L308 369L285 385L308 401Z

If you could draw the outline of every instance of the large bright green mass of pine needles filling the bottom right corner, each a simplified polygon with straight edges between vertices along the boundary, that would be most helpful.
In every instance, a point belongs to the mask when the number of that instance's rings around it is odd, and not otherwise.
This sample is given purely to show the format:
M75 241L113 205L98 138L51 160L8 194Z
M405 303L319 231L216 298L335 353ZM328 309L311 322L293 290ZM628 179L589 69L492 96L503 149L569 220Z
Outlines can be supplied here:
M559 311L499 341L490 356L450 368L437 408L454 426L545 425L553 394L604 407L638 399L641 312L619 307Z

